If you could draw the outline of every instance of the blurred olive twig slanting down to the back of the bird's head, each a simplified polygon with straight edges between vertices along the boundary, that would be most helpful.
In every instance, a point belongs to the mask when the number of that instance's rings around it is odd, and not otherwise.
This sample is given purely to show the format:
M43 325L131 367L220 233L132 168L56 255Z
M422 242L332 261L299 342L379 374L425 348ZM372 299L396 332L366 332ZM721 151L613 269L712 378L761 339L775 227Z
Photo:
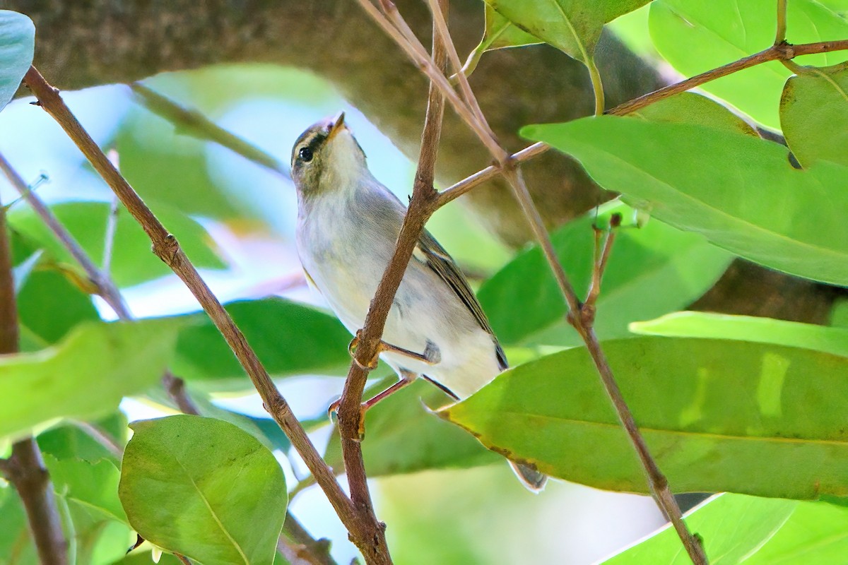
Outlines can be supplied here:
M145 108L148 108L153 114L167 119L171 124L179 126L178 133L215 141L218 145L226 147L249 161L262 165L265 169L282 174L287 179L290 178L283 164L271 153L265 152L254 144L225 130L198 110L185 108L140 82L133 82L130 88Z

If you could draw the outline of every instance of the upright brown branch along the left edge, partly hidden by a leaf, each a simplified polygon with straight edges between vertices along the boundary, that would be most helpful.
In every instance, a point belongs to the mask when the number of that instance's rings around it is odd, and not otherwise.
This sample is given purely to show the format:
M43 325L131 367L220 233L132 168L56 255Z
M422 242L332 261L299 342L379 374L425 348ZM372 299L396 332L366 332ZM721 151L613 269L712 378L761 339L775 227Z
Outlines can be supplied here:
M0 355L18 351L18 306L14 296L12 251L6 209L0 206ZM28 437L15 442L12 455L3 462L3 475L14 485L24 503L42 565L67 565L68 544L62 531L62 518L36 440Z

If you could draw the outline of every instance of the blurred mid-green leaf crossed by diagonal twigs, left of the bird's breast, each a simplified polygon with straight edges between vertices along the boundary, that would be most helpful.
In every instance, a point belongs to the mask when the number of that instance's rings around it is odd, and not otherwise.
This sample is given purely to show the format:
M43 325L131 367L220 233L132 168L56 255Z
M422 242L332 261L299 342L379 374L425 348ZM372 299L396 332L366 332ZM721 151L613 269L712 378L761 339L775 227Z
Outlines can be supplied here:
M50 207L59 221L74 235L95 263L102 264L109 204L106 202L64 202ZM209 234L195 220L170 206L156 206L157 217L180 241L183 251L197 267L222 269L226 265L217 254ZM56 239L31 208L15 207L8 215L15 230L38 241L59 262L75 264L70 253ZM150 240L142 227L121 208L114 233L111 273L115 284L137 285L170 274L171 270L150 251Z

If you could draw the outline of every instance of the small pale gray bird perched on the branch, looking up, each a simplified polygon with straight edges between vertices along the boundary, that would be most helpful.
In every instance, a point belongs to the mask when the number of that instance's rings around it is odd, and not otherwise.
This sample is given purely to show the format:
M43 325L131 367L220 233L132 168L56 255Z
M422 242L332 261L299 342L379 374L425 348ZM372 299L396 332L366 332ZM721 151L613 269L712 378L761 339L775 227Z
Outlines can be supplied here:
M344 114L310 126L295 141L297 242L307 280L355 333L392 257L406 208L374 178ZM404 273L382 335L381 354L399 382L363 404L373 406L418 375L457 400L506 367L503 349L465 276L426 230ZM540 490L546 475L510 462Z

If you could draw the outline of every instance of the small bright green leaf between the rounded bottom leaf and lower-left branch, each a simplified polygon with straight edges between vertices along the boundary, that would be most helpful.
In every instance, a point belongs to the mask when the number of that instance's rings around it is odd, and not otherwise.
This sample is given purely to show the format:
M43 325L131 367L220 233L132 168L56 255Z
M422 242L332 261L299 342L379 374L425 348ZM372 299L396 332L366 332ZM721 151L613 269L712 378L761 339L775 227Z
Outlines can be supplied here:
M44 456L44 463L56 494L101 518L129 523L118 500L120 471L114 463L103 459L97 463L82 459L59 460L51 455Z

